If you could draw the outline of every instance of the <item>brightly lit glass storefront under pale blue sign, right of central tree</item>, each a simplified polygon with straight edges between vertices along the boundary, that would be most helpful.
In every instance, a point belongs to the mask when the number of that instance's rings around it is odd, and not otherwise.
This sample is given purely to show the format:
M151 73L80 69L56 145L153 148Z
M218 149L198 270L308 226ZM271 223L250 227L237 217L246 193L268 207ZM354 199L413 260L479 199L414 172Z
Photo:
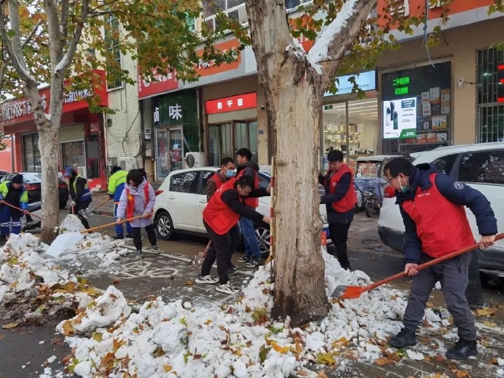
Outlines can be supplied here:
M355 77L356 83L365 92L364 98L356 99L352 95L353 84L349 82L351 77ZM323 98L320 148L324 171L329 167L329 151L342 151L347 164L355 168L357 157L376 153L379 140L376 72L342 76L338 78L336 85L336 94L326 92Z

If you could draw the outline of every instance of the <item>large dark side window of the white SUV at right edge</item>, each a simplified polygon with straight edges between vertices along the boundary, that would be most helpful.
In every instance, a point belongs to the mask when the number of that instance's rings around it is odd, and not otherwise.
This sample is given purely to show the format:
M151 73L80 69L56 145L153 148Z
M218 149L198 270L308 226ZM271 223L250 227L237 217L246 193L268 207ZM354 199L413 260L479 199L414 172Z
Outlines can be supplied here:
M459 165L459 180L504 185L504 150L463 155Z

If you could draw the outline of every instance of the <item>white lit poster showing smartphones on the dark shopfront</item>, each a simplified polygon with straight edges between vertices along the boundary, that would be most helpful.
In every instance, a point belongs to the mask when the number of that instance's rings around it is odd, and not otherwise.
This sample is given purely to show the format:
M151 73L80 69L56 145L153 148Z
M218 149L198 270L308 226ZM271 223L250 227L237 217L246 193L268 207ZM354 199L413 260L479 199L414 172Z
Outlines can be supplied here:
M384 139L416 138L416 97L383 101Z

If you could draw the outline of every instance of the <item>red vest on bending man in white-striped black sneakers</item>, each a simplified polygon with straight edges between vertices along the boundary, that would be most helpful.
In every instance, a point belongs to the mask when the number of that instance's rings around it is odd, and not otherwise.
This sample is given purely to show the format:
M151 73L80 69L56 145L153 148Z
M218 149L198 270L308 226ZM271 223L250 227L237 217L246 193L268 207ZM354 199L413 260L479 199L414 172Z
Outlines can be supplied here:
M235 190L233 186L235 181L236 178L231 178L229 181L224 182L203 209L203 219L217 235L224 235L240 219L240 216L222 201L222 194L225 191L228 189Z

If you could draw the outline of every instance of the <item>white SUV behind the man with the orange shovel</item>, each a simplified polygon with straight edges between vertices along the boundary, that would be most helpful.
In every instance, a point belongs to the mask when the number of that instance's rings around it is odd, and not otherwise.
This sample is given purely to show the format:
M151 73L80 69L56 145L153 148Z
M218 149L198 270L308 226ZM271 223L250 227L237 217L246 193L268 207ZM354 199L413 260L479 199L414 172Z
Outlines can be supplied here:
M439 147L411 156L415 158L413 164L432 163L440 172L474 187L485 195L497 218L497 229L504 232L504 142ZM387 186L378 221L378 233L385 245L402 252L404 224L394 196L394 188ZM479 240L481 236L476 219L471 210L466 208L466 212L474 238ZM504 241L497 241L493 247L481 250L479 263L482 271L496 281L502 281Z

